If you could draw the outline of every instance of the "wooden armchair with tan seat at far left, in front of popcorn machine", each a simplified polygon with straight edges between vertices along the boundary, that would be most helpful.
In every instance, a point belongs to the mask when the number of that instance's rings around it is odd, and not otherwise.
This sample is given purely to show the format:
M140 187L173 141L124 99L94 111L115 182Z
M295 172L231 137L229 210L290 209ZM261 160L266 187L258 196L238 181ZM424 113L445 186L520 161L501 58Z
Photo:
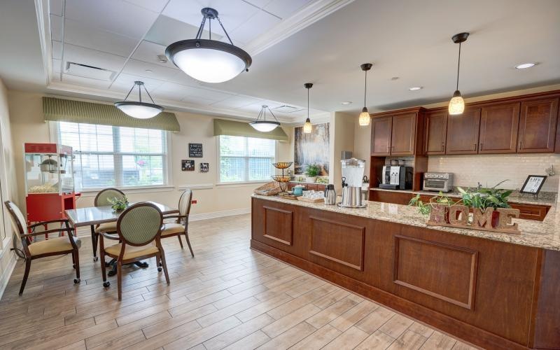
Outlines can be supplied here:
M76 269L76 279L74 279L74 283L80 283L80 258L78 255L80 240L77 237L73 237L73 229L70 228L68 221L66 219L59 219L27 226L25 216L23 216L18 206L9 200L4 202L4 204L6 204L6 208L8 208L8 212L12 217L15 228L17 228L18 233L20 234L23 247L22 251L25 255L25 272L23 274L22 286L20 287L20 295L23 294L25 283L27 283L27 277L29 277L31 260L44 258L45 256L65 255L71 253L73 267ZM54 230L27 233L28 230L33 230L37 226L48 225L49 223L64 223L64 228L61 227L55 228ZM31 237L55 232L68 232L68 235L50 238L45 241L34 241L31 243Z

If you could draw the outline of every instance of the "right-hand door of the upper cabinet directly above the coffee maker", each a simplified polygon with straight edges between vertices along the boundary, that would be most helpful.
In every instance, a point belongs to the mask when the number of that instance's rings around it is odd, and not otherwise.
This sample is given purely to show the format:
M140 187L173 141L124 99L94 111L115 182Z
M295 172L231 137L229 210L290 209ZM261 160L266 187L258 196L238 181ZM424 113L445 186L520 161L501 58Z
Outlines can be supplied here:
M416 145L416 113L393 116L391 155L414 155Z

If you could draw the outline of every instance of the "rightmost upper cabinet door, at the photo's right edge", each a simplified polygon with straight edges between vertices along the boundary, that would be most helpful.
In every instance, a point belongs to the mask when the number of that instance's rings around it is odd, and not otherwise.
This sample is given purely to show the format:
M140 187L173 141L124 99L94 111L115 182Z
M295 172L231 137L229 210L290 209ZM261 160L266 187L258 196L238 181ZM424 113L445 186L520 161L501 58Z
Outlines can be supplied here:
M558 98L521 102L517 153L554 152Z

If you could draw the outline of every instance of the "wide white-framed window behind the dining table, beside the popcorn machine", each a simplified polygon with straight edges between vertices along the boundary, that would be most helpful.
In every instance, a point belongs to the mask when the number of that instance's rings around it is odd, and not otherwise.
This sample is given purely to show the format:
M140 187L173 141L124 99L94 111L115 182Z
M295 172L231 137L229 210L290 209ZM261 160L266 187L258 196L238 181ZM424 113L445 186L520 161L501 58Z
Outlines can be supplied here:
M134 127L58 123L60 144L76 156L76 187L167 185L167 132Z

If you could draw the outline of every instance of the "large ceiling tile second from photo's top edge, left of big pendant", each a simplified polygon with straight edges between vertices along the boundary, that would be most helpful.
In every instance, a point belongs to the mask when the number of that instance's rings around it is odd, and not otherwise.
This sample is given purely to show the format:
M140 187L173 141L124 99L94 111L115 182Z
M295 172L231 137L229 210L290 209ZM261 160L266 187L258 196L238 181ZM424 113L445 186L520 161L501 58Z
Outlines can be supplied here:
M66 19L64 41L93 50L109 52L113 55L128 57L136 47L138 39L89 27L83 22Z

